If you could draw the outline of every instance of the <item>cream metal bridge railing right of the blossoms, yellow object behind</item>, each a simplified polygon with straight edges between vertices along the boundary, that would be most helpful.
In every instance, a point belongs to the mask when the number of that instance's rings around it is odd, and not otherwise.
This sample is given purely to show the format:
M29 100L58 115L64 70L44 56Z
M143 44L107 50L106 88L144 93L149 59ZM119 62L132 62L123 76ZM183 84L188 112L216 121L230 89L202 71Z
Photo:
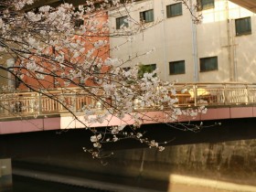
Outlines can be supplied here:
M176 85L178 105L239 105L256 103L256 85L197 83ZM182 92L182 93L181 93Z

